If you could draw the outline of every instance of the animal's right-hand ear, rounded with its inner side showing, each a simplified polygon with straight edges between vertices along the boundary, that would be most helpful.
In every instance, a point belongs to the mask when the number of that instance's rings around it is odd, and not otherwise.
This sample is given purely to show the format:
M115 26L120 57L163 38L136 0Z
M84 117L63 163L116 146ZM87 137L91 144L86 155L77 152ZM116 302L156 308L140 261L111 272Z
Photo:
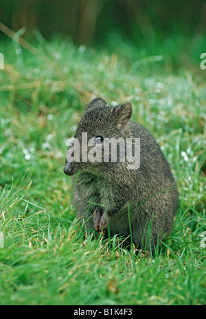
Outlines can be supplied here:
M126 125L132 115L132 112L132 105L128 102L124 105L115 106L115 108L113 108L113 113L118 128L122 128Z

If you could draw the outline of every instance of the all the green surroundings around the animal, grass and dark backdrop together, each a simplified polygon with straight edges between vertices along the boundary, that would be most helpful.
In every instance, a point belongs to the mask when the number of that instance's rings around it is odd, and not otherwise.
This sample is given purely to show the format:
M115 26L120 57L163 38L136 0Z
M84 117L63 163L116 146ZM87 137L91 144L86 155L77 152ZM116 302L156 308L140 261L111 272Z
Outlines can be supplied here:
M205 18L205 1L0 0L1 304L205 304ZM172 165L153 258L75 222L66 141L97 96L132 102Z

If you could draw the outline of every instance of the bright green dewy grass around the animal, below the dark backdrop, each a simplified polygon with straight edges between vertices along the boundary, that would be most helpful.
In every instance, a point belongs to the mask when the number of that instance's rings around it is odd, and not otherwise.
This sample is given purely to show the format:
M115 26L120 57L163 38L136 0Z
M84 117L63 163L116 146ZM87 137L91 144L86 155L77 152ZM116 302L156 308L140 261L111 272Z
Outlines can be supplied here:
M205 304L206 71L172 73L162 58L138 50L131 62L36 38L30 51L1 43L0 303ZM133 120L152 132L174 169L174 229L152 258L117 237L85 237L76 224L62 173L66 140L96 96L113 105L130 100Z

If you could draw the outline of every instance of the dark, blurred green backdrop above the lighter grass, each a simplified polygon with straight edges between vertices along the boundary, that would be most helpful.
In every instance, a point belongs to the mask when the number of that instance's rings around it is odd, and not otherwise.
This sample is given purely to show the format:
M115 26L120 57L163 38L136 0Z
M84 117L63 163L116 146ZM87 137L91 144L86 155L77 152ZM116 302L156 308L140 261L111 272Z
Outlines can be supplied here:
M163 56L169 70L197 66L205 51L202 0L1 0L0 8L1 22L14 32L26 27L30 41L38 29L47 40L60 35L76 45L106 47L133 62Z

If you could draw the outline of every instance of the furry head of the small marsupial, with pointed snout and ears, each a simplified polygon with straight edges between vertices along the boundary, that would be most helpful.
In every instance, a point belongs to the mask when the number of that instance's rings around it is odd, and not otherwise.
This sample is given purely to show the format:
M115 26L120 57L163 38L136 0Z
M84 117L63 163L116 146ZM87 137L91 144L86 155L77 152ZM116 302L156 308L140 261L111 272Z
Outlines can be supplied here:
M105 146L108 139L121 141L131 114L132 106L130 103L112 108L106 105L103 99L93 99L87 106L74 139L67 150L65 174L71 176L76 174L79 169L81 172L95 172L95 169L98 171L100 165L105 162ZM107 154L108 160L108 157L111 158L110 148L107 152L109 152Z

